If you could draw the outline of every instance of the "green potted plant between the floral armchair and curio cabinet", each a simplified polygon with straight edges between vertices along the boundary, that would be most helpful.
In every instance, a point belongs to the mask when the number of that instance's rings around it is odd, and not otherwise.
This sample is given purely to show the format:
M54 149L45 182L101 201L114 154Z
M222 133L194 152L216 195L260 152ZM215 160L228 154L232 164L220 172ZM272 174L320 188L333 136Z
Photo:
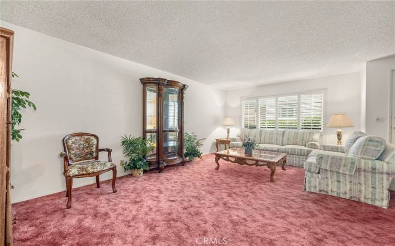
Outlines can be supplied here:
M141 177L144 170L149 170L149 165L144 156L154 150L153 143L143 137L123 136L120 144L123 155L129 160L123 164L125 171L132 170L133 177Z

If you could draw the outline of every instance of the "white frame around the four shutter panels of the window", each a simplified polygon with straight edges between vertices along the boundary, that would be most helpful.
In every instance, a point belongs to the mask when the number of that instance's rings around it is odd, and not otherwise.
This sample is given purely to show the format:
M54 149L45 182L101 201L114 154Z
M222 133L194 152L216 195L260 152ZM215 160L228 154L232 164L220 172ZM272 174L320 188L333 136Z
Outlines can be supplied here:
M242 121L242 117L243 117L243 101L244 100L252 100L255 99L256 101L256 128L255 129L283 129L285 130L286 128L278 128L278 97L281 96L292 96L292 95L297 95L298 96L298 105L297 105L297 128L289 128L289 129L294 129L294 130L308 130L308 129L301 129L301 95L305 95L305 94L319 94L321 93L323 95L323 112L322 112L322 129L319 131L323 132L323 135L325 135L326 132L326 121L327 121L327 115L326 115L326 107L327 107L327 89L317 89L317 90L309 90L309 91L303 91L303 92L295 92L295 93L282 93L282 94L271 94L271 95L262 95L262 96L241 96L240 97L240 128L244 128L243 127L243 121ZM265 98L276 98L276 127L275 128L263 128L260 127L260 119L259 119L259 99L265 99Z

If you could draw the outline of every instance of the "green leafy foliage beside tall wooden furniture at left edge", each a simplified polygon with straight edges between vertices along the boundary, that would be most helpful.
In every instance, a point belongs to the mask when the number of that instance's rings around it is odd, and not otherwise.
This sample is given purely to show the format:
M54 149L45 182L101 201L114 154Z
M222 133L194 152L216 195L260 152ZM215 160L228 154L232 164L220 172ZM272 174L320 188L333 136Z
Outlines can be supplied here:
M19 78L19 76L12 72L12 78ZM28 107L33 108L36 111L36 105L29 100L30 93L12 90L12 103L11 103L11 139L19 142L22 139L21 131L24 129L16 129L16 125L20 125L22 122L22 114L20 110Z

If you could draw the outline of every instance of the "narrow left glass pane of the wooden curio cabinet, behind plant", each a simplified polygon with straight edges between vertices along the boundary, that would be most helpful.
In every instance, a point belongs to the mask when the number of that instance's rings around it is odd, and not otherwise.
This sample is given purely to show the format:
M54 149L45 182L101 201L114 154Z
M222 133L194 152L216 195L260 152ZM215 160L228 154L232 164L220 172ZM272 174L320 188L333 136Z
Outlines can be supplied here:
M154 160L157 157L157 86L147 85L145 88L145 137L151 140L155 147L146 158Z

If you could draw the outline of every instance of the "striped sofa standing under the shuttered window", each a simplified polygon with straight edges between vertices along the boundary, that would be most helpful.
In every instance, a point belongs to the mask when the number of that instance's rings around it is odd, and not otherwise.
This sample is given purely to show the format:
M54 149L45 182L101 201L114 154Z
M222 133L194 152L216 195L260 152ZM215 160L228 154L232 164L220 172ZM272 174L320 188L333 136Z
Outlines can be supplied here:
M242 139L253 138L259 143L257 150L287 154L287 165L303 167L309 154L318 150L322 143L319 130L268 130L241 128L231 139L231 148L242 148Z

